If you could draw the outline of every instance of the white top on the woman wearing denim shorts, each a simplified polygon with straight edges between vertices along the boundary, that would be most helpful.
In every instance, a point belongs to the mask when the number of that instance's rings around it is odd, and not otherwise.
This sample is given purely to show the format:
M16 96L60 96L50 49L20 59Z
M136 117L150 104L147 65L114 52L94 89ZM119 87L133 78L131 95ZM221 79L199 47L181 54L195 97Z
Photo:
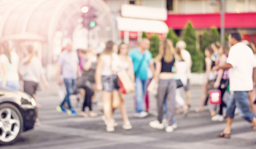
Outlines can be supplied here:
M103 76L110 76L116 74L119 69L120 60L119 56L116 53L110 55L101 55L101 60L103 60L104 66L102 69Z

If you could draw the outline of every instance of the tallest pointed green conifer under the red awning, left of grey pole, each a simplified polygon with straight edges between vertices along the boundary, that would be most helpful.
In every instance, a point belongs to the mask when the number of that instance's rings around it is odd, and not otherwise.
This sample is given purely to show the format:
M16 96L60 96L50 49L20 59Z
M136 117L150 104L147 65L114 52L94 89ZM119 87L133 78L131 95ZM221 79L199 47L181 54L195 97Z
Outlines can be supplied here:
M197 49L196 43L196 30L192 26L191 22L188 22L186 28L183 29L183 40L186 42L186 50L191 54L192 59L192 72L201 72L204 66L204 55Z

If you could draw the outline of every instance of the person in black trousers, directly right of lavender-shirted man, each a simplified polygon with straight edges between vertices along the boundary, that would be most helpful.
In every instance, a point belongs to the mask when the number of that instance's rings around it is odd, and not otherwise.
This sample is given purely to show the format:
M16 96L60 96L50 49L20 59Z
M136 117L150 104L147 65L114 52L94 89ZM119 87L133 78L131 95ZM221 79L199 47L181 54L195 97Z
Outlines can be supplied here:
M90 117L97 117L97 113L93 112L92 109L92 96L94 94L94 84L95 84L95 71L97 66L97 58L92 53L92 48L88 48L87 54L85 58L83 58L82 62L82 78L83 84L81 88L85 89L85 97L83 101L82 111L80 112L80 115L82 117L88 117L88 115L85 113L85 107L89 108L89 115Z

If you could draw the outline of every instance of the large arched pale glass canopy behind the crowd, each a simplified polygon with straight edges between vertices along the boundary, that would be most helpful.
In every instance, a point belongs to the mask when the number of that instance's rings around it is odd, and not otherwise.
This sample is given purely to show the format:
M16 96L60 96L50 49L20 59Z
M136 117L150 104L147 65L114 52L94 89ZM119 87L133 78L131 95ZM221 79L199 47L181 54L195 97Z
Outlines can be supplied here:
M95 10L97 24L92 29L82 25L83 6ZM107 40L117 40L117 30L102 0L0 0L0 40L9 40L21 55L22 45L35 43L47 65L57 60L68 40L73 41L74 50L89 45L102 50Z

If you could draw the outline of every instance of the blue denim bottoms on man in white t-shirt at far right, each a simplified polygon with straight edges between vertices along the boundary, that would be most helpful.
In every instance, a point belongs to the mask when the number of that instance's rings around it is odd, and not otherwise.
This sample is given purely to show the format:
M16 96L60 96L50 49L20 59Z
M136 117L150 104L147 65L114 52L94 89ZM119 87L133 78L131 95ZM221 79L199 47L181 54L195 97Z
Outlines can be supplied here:
M248 122L252 122L254 119L254 113L249 110L249 101L247 99L248 91L234 91L232 97L227 104L227 117L234 119L235 107L239 108L241 116Z

